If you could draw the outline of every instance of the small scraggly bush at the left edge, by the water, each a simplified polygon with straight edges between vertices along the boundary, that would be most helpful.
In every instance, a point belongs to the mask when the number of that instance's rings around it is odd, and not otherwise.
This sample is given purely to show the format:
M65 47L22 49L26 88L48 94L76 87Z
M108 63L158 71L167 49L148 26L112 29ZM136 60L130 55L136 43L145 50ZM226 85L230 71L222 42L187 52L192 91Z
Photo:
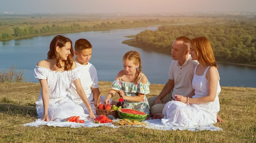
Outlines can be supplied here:
M2 69L0 72L0 82L23 82L24 71L17 72L17 68L12 66L7 71Z

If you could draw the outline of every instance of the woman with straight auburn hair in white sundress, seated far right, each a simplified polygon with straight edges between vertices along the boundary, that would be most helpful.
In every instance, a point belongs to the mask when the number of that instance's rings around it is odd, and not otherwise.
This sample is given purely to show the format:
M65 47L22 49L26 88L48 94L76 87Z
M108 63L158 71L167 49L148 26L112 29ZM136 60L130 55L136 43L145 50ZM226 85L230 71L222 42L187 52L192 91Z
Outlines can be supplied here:
M186 98L175 95L176 101L166 103L163 112L154 119L162 119L167 126L206 126L217 122L220 110L220 77L218 65L213 55L211 44L206 37L191 40L190 54L192 60L198 60L192 85L195 95Z

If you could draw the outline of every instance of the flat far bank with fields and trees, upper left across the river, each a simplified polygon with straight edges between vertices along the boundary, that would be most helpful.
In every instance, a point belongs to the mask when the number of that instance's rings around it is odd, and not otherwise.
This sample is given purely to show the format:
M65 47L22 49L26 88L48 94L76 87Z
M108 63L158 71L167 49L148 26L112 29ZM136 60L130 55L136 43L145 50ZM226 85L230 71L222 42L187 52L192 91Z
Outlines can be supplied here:
M108 18L106 19L102 18L101 14L93 16L46 14L40 15L40 17L33 15L34 18L28 17L27 15L2 16L3 17L0 16L0 41L24 39L42 35L54 35L59 33L103 31L186 22L186 20L177 21L174 17L155 17L149 15L119 17L116 17L115 15L108 15ZM16 28L16 30L14 30L14 28ZM28 29L30 29L29 32L22 32L23 30L28 31Z

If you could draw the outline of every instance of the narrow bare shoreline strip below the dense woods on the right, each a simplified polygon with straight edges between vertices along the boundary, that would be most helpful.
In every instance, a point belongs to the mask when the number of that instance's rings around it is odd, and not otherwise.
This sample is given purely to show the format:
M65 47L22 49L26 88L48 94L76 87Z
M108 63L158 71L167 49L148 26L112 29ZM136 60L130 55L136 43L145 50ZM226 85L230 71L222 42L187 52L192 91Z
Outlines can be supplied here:
M130 36L130 37L134 37L134 36ZM171 55L171 49L170 50L161 50L161 49L156 49L154 47L145 47L145 45L139 44L137 43L136 39L128 39L128 40L124 40L122 41L123 44L132 46L132 47L136 47L136 48L141 48L144 50L151 50L154 52L158 52L158 53L162 53L162 54L166 54L166 55ZM256 65L250 65L250 64L244 64L244 63L231 63L231 62L225 62L225 61L217 61L218 63L223 63L223 64L227 64L227 65L242 65L242 66L249 66L249 67L256 67Z

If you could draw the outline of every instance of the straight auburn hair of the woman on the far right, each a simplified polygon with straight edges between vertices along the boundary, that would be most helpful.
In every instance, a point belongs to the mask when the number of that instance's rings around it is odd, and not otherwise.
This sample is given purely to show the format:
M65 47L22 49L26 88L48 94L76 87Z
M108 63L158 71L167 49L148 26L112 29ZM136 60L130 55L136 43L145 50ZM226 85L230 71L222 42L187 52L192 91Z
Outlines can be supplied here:
M206 37L197 37L191 40L191 45L198 56L198 62L202 65L214 66L218 69L211 43Z

